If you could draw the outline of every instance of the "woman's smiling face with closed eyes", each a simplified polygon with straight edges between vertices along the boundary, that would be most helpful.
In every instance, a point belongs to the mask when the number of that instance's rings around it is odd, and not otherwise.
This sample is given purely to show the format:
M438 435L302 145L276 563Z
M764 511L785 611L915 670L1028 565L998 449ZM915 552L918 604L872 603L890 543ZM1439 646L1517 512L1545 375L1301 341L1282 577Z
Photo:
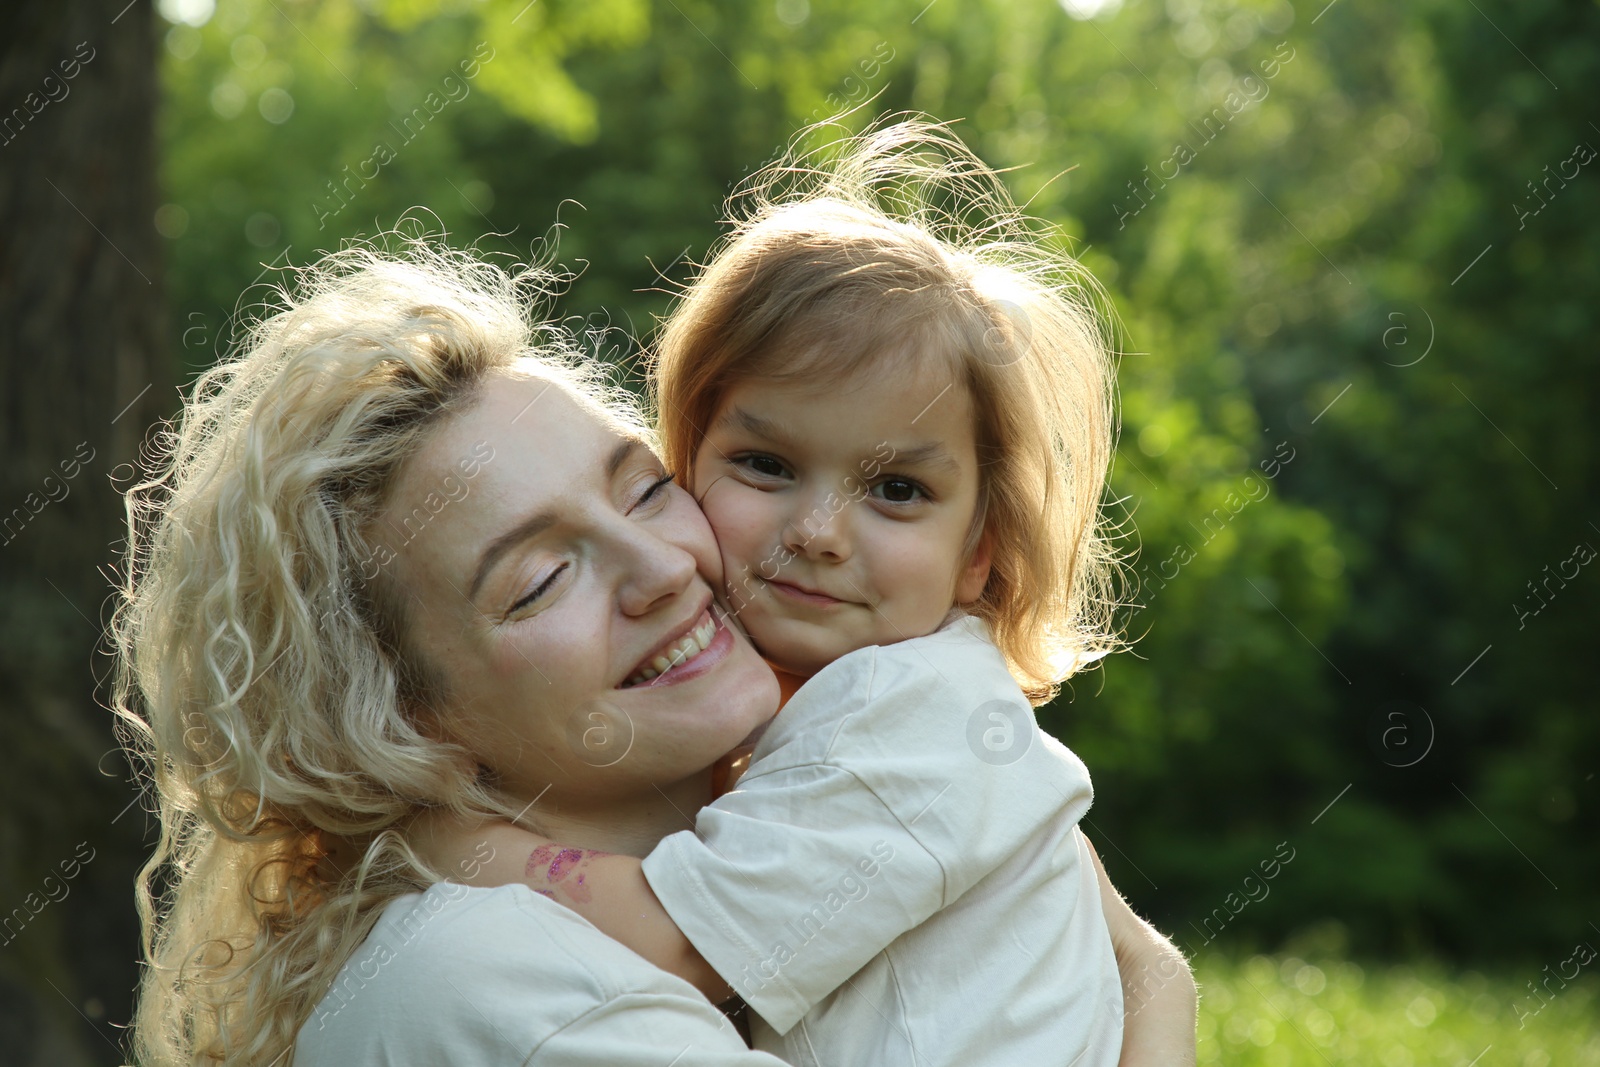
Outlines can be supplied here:
M406 464L384 520L408 645L446 688L435 728L512 797L648 793L778 707L771 670L710 614L722 565L699 507L563 384L491 376Z

